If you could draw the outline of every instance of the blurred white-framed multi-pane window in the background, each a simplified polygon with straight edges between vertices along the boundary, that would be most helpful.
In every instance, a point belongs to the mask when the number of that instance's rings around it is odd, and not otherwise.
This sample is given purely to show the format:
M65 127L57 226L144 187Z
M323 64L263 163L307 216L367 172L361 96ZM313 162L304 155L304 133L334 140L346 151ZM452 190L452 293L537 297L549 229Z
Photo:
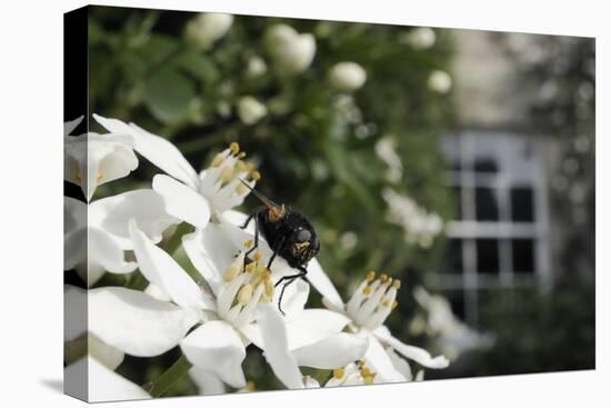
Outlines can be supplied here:
M549 283L543 158L537 139L507 132L450 135L442 147L455 211L445 269L433 285L477 325L482 290Z

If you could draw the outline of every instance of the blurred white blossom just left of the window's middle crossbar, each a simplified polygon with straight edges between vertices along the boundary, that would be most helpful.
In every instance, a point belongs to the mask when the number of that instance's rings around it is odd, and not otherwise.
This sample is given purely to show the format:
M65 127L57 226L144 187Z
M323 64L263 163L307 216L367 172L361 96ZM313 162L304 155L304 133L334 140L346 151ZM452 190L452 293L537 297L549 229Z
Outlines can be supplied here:
M429 212L407 196L385 188L382 197L389 206L387 220L403 228L404 240L429 248L434 237L443 230L443 220L435 212Z

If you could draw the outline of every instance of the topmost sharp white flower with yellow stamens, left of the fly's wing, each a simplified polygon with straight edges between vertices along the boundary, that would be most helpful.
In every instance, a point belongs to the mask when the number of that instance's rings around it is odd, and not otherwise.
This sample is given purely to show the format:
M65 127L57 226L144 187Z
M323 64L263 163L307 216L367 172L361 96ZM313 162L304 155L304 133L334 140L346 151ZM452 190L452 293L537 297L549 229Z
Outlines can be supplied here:
M252 165L242 161L246 153L240 152L236 142L218 153L211 166L198 176L182 153L162 137L134 123L93 117L110 131L130 135L136 151L171 176L154 176L153 190L163 197L168 213L198 228L208 225L212 211L222 212L242 203L249 190L240 180L254 187L260 177Z

